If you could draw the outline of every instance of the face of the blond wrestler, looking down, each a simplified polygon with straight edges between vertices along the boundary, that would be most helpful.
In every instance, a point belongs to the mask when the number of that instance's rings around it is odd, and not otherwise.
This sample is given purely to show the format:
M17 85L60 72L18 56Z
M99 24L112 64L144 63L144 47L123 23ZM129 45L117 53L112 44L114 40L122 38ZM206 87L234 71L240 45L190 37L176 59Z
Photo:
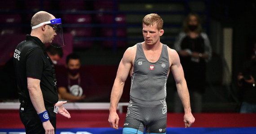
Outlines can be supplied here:
M160 42L160 36L163 35L163 29L158 30L157 25L145 25L142 26L142 33L146 45L154 45Z

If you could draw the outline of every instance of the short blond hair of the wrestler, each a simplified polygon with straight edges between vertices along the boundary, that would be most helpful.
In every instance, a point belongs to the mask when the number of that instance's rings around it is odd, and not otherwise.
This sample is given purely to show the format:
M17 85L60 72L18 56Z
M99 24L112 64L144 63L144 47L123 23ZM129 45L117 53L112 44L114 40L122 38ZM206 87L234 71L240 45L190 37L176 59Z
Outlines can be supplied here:
M142 25L153 26L154 24L157 25L157 29L163 29L163 19L156 13L150 13L146 15L142 20Z

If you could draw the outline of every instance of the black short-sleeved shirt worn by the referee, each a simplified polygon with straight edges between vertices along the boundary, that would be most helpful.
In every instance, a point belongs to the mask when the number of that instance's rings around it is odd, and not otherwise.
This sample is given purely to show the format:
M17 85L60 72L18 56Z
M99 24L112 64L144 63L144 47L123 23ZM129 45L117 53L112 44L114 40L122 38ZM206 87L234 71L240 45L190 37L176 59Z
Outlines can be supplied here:
M26 35L26 40L19 43L14 51L14 67L18 93L27 102L31 102L27 89L27 77L40 80L40 88L45 105L57 103L58 95L54 88L51 60L43 42L37 37Z

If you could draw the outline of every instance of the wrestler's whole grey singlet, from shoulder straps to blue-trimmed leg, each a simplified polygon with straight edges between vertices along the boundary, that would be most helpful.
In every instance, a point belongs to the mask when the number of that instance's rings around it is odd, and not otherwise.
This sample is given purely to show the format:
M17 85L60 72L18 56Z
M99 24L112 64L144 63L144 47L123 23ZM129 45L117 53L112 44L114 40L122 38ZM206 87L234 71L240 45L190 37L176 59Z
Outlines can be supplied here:
M131 76L130 102L123 134L166 134L166 81L169 58L163 44L160 58L151 63L146 59L141 43L137 43Z

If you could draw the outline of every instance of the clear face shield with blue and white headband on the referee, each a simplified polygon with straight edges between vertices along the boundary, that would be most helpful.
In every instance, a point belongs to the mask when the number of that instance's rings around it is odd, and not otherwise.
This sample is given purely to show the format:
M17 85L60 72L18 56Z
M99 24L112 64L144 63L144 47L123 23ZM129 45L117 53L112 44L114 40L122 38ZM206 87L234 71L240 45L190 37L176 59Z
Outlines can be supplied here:
M63 29L62 29L62 19L61 18L52 19L50 21L46 21L46 22L40 23L38 25L32 26L32 29L38 28L44 24L51 26L57 34L57 35L55 35L51 45L54 47L57 47L57 48L65 46L65 41L64 41L64 37L63 37Z

